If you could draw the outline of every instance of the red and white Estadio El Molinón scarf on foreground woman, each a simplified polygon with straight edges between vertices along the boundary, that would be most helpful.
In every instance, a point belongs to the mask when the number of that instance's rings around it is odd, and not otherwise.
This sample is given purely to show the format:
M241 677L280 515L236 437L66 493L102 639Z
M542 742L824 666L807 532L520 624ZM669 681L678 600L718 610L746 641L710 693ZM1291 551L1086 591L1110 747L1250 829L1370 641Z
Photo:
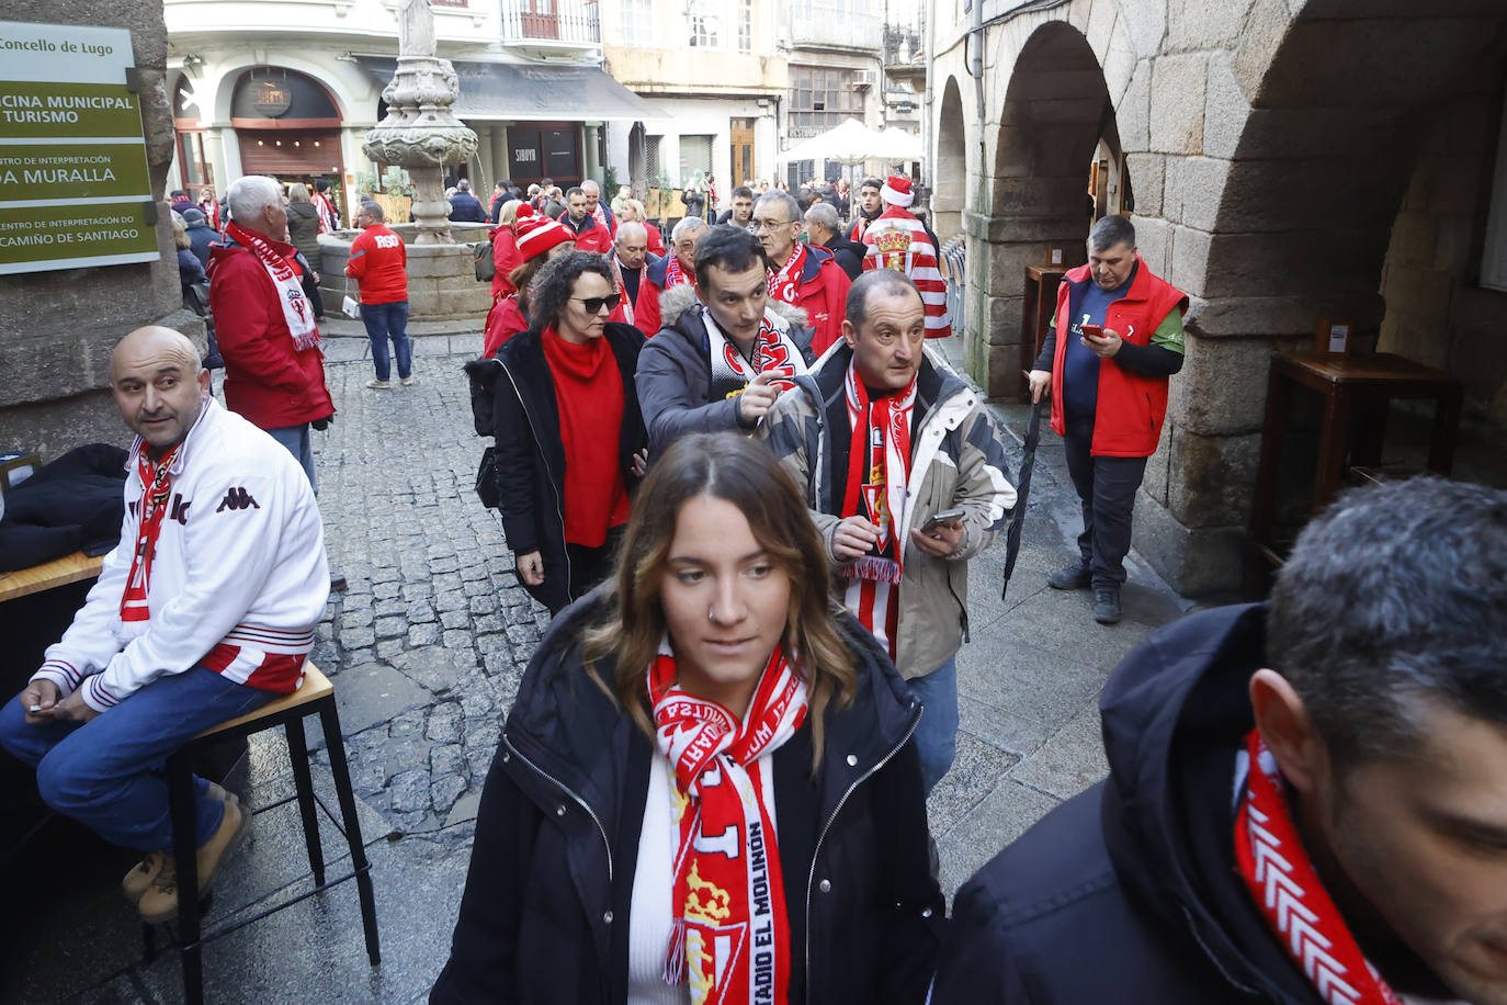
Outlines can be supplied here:
M806 681L776 648L738 722L678 680L666 640L648 675L659 749L675 773L675 925L665 982L689 981L692 1005L784 1002L790 922L773 787L758 759L800 728Z

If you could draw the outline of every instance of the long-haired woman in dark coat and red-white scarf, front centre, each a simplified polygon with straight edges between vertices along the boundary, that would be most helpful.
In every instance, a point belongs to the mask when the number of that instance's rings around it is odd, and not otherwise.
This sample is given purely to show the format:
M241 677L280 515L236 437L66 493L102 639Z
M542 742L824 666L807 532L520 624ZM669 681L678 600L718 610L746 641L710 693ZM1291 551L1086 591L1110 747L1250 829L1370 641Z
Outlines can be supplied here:
M639 499L524 671L431 1005L919 1005L919 702L766 448L684 437Z

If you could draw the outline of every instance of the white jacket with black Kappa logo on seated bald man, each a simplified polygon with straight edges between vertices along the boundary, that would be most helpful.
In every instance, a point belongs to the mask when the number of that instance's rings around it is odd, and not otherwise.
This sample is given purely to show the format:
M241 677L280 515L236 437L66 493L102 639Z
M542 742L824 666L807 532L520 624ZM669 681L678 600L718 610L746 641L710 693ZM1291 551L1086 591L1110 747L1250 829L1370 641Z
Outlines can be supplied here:
M148 621L121 621L145 487L131 446L121 544L32 680L105 711L166 674L208 666L288 693L303 683L330 595L324 521L286 448L209 401L173 461L148 583Z

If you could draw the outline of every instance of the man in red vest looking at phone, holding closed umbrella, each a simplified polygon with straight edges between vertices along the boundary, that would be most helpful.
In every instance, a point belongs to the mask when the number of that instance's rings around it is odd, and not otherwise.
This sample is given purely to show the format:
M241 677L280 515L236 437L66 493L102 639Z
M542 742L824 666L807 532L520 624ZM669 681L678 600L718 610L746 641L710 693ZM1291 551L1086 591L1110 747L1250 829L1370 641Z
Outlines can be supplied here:
M1094 621L1120 621L1130 514L1166 416L1166 378L1183 368L1188 295L1151 274L1135 228L1105 217L1088 234L1088 264L1062 277L1056 313L1031 374L1031 401L1052 395L1052 429L1084 505L1081 559L1047 577L1094 591Z

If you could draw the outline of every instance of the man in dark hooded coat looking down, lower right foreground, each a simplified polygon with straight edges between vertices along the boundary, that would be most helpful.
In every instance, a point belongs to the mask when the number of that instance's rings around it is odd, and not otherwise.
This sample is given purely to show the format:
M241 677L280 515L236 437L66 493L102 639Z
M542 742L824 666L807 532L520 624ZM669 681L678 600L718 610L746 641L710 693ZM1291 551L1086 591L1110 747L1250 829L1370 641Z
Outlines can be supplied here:
M1109 777L963 886L933 1002L1507 1002L1507 493L1346 496L1102 714Z

